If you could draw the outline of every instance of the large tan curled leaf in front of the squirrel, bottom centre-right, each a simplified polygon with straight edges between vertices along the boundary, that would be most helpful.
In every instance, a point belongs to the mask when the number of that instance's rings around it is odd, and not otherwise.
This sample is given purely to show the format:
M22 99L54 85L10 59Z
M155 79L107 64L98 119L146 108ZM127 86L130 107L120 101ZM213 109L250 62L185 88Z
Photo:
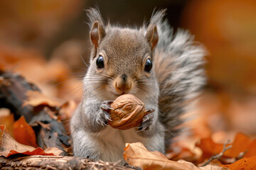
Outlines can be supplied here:
M183 160L179 160L178 162L171 161L164 157L164 154L160 152L149 152L146 147L140 142L137 143L127 143L124 148L124 160L128 162L128 164L132 166L139 166L142 169L171 169L171 170L220 170L227 169L225 167L220 166L204 166L197 167L193 165L191 162L186 162Z

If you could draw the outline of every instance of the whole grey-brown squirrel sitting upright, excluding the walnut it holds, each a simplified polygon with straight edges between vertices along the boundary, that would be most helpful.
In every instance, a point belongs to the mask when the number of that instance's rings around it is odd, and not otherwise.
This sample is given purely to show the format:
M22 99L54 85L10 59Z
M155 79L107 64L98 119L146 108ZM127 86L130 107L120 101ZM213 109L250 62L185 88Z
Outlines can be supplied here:
M205 83L205 50L186 31L173 35L164 15L157 11L142 28L121 28L106 24L97 9L87 10L93 47L82 101L70 124L75 156L117 162L127 142L164 154L181 131L180 117ZM107 125L108 103L122 94L137 96L153 111L137 128Z

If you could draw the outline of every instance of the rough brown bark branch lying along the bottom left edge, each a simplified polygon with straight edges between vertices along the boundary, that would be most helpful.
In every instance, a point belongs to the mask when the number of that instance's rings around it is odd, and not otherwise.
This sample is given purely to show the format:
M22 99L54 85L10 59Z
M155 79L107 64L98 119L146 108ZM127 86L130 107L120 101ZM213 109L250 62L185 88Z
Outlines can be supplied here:
M132 170L129 167L118 166L112 162L94 162L92 159L68 156L17 157L13 159L0 157L0 169L116 169Z

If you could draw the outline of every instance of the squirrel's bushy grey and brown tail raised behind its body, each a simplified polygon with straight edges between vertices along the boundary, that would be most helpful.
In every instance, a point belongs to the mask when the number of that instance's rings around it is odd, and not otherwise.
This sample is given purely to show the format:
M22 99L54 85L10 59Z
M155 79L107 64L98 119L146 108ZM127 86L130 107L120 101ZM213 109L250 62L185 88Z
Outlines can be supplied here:
M154 18L154 16L153 16ZM161 21L161 20L160 20ZM157 23L159 42L154 53L154 72L159 82L159 119L166 128L166 147L180 131L181 115L205 84L202 45L188 31L173 35L167 21Z

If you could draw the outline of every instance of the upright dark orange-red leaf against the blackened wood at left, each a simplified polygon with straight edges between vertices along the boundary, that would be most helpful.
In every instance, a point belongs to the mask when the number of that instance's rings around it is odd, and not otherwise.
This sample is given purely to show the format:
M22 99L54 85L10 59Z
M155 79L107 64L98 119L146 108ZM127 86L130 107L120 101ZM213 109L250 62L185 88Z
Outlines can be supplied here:
M23 115L14 123L14 139L23 144L38 147L36 144L36 134Z

